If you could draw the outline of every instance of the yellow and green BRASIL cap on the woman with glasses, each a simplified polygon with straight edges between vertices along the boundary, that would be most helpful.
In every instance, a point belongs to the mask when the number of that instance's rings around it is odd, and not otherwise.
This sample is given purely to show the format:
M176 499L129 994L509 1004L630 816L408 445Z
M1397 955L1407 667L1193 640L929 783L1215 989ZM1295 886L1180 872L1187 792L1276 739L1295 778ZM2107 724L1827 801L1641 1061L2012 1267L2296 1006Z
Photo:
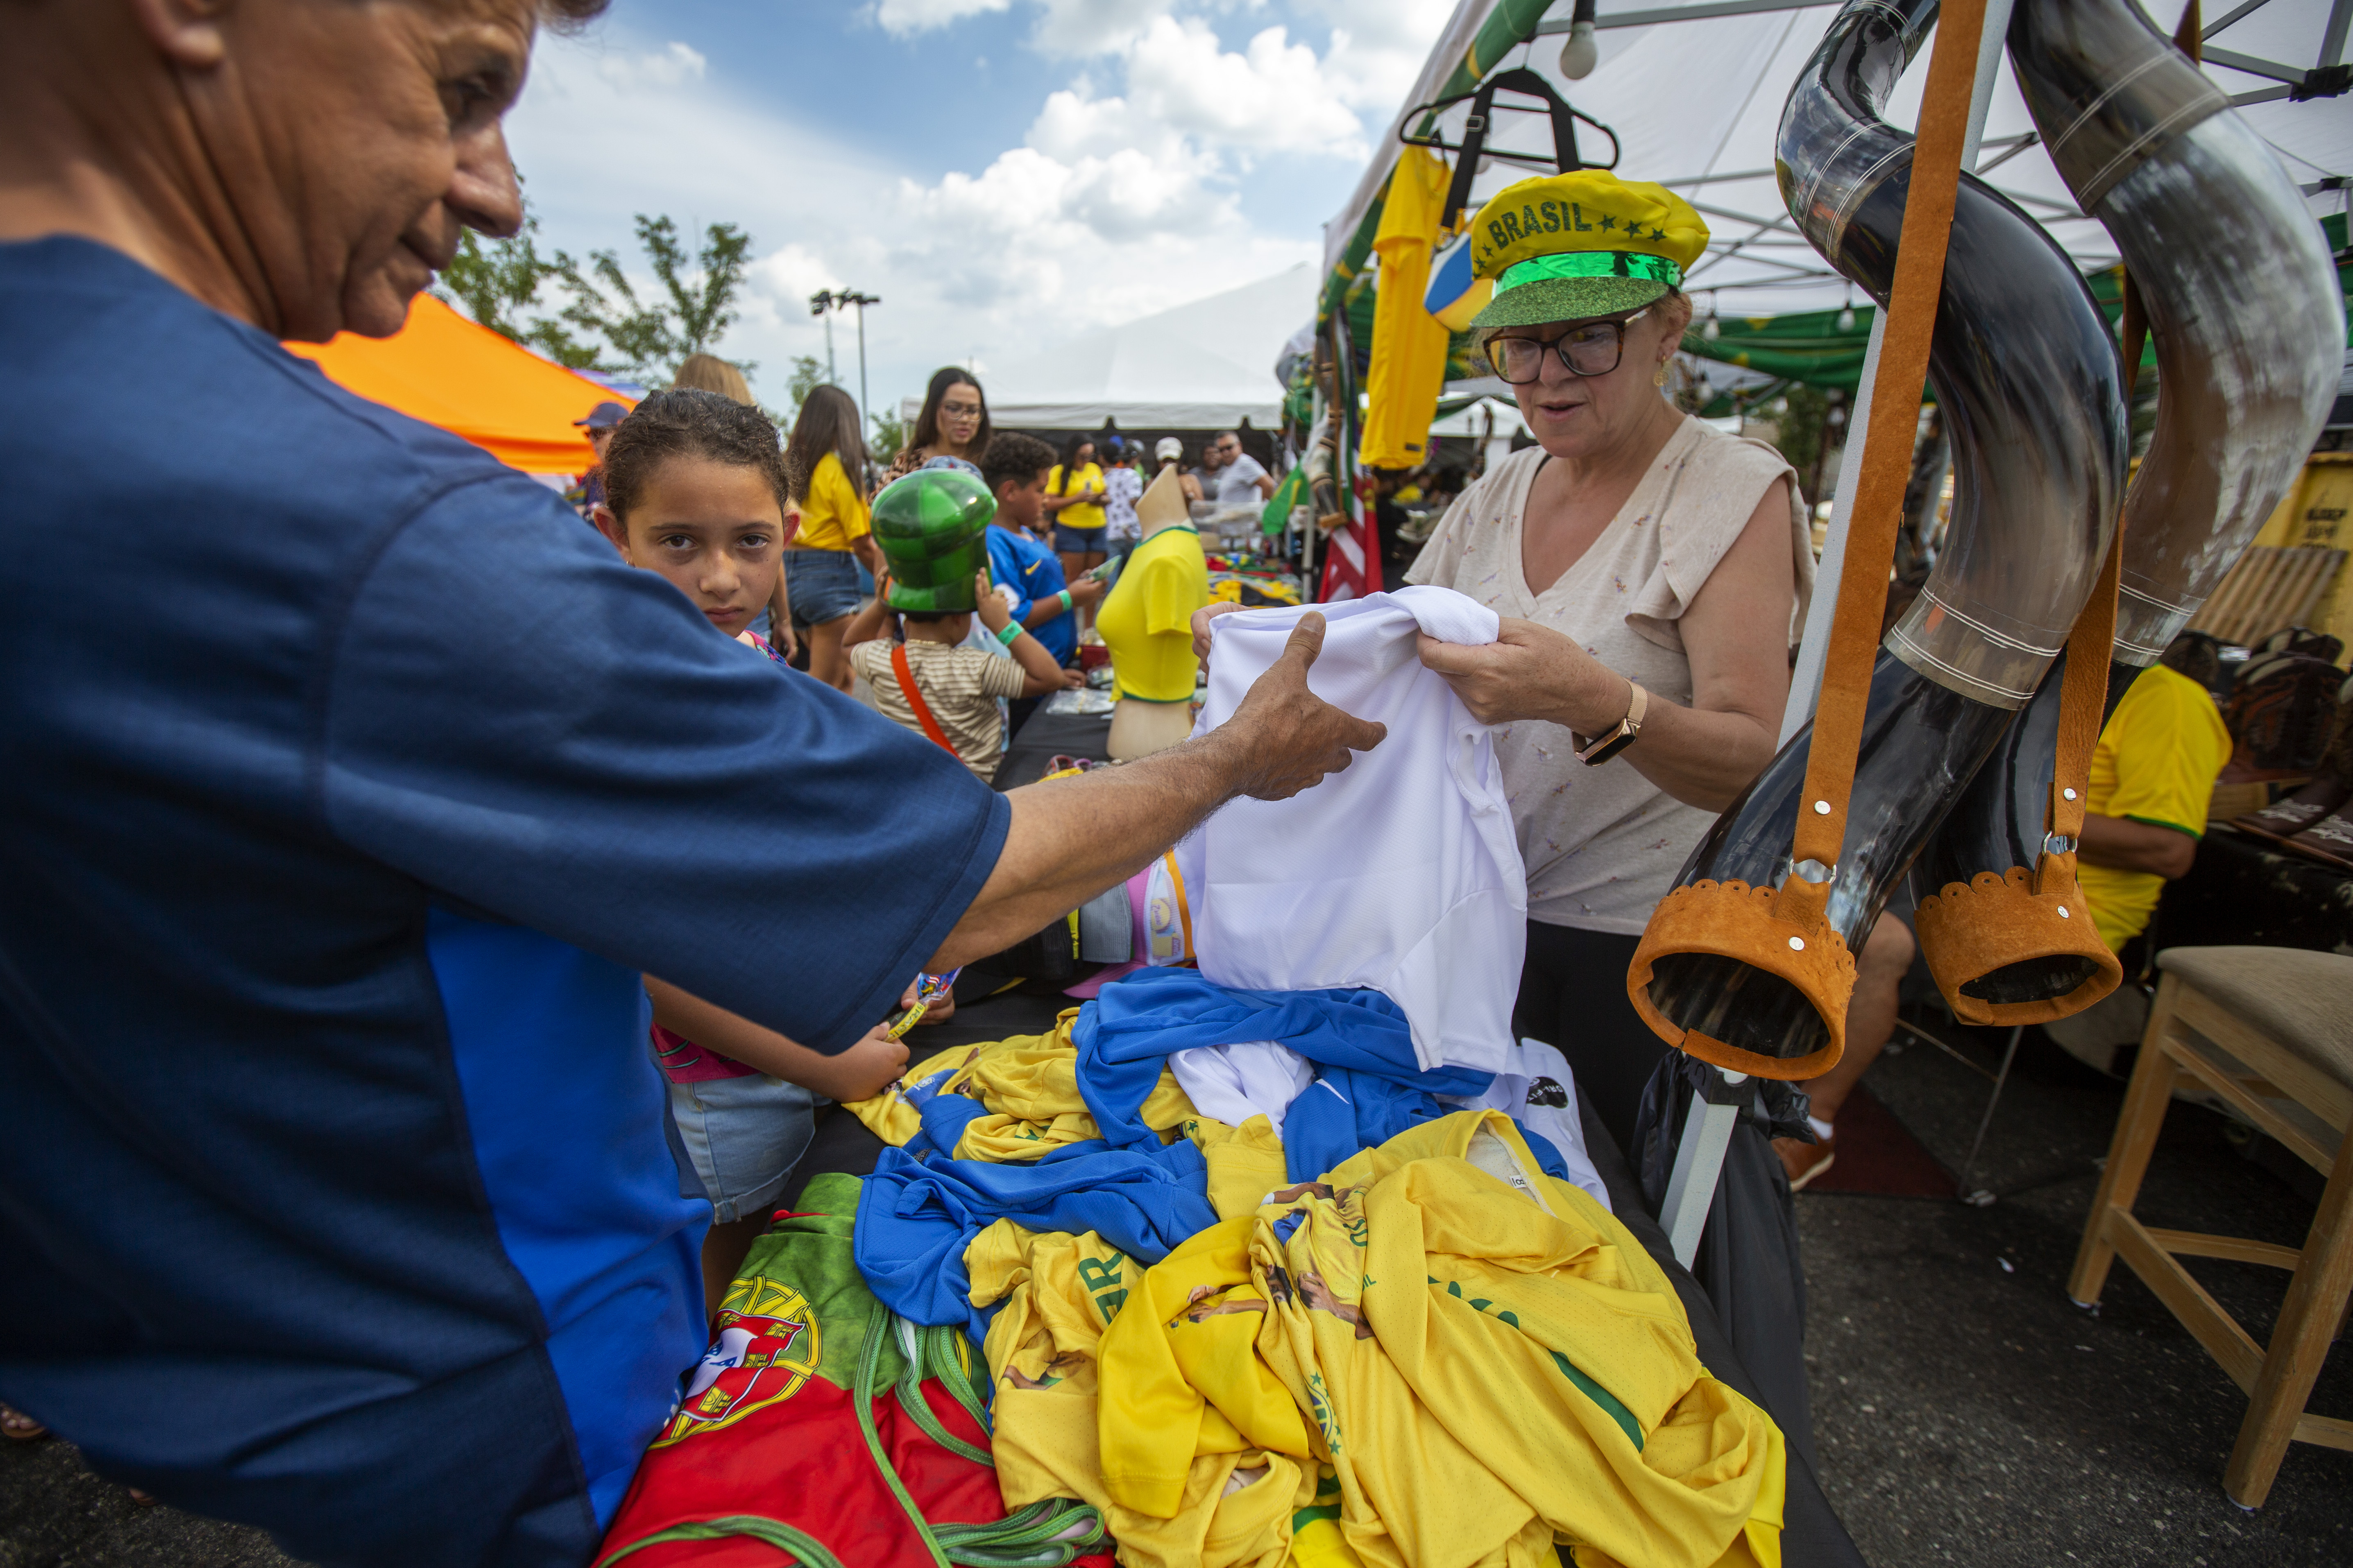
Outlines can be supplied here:
M1600 169L1506 186L1471 219L1471 273L1494 280L1473 327L1640 310L1682 287L1708 226L1666 186Z

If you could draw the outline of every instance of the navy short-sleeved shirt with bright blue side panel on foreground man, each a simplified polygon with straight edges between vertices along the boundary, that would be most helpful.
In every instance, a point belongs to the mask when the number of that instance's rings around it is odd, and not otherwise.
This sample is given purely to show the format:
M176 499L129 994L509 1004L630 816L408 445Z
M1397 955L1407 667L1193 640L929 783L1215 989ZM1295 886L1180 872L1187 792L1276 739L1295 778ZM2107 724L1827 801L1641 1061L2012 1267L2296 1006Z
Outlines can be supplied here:
M704 1338L638 973L842 1048L1005 802L111 249L0 244L0 1399L586 1563Z

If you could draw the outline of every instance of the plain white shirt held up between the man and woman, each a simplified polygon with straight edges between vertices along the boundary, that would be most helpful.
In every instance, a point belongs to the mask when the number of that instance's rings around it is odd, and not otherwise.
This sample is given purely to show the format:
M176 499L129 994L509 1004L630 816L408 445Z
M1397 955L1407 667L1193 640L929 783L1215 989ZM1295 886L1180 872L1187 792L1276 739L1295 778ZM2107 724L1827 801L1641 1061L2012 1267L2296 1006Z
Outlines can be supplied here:
M1452 588L1315 604L1315 696L1388 738L1285 802L1235 799L1179 846L1200 971L1245 990L1372 987L1424 1067L1504 1070L1527 947L1527 879L1489 729L1431 675L1417 632L1485 644L1497 614ZM1301 609L1212 621L1217 729L1282 656Z

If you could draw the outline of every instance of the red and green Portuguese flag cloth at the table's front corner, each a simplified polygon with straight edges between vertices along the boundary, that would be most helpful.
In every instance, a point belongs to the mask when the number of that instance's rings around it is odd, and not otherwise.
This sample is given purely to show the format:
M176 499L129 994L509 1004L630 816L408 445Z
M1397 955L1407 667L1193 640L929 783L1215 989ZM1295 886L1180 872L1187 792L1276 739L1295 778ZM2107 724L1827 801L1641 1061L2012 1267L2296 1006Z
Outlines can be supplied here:
M744 1260L598 1568L1111 1568L1092 1507L1005 1514L988 1375L960 1331L918 1328L866 1288L859 1178L819 1175L800 1201L812 1213Z

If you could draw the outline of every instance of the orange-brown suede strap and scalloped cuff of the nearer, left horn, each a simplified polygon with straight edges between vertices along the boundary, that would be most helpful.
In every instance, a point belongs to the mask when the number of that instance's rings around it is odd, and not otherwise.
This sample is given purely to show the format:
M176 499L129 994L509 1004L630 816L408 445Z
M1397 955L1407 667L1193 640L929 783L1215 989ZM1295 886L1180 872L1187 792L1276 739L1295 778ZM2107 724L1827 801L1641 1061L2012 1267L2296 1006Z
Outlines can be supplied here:
M1944 252L1953 233L1953 197L1960 188L1960 153L1969 139L1969 89L1977 80L1977 42L1986 24L1984 0L1948 0L1937 16L1927 87L1920 99L1920 134L1913 141L1911 190L1904 197L1904 233L1897 240L1897 275L1887 294L1887 336L1871 383L1871 425L1864 433L1861 477L1847 517L1847 557L1838 574L1838 614L1824 661L1821 701L1805 764L1805 802L1798 806L1793 865L1831 867L1847 839L1847 797L1854 792L1854 757L1864 741L1864 705L1871 701L1871 663L1887 611L1887 569L1904 524L1904 487L1920 428L1920 388L1927 383L1927 350L1944 294ZM1671 1046L1704 1063L1767 1079L1809 1079L1828 1072L1847 1048L1847 1001L1854 994L1854 954L1824 917L1831 877L1807 882L1795 870L1779 891L1744 882L1697 882L1659 900L1626 992L1642 1023ZM1760 1056L1682 1030L1649 1001L1652 966L1678 952L1739 959L1793 985L1821 1016L1828 1044L1809 1056Z

